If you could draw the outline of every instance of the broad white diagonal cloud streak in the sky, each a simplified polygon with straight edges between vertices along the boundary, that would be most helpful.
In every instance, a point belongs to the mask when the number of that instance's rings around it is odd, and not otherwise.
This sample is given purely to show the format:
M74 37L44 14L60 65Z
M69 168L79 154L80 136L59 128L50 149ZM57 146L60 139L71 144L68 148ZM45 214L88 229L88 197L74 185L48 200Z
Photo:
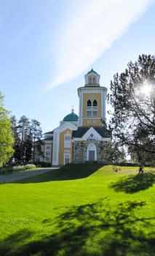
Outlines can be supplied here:
M55 48L55 80L75 78L98 59L147 10L151 0L77 0L65 13Z

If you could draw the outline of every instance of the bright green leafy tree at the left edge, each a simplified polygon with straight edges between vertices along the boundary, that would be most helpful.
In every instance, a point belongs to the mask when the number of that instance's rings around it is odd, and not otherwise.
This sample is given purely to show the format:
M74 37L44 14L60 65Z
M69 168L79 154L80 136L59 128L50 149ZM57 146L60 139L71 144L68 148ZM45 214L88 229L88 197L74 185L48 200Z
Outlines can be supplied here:
M3 107L4 97L0 92L0 166L8 162L13 154L13 136L9 112Z

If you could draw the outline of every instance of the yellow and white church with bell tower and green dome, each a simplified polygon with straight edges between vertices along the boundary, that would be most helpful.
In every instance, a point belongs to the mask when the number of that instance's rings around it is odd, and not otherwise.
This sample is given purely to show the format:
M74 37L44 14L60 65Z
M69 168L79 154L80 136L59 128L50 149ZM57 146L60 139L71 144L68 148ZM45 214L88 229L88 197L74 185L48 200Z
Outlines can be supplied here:
M84 86L78 88L79 116L72 109L59 127L45 133L44 157L39 161L52 166L108 161L106 145L111 143L111 132L106 129L107 89L100 86L100 75L93 69L84 79Z

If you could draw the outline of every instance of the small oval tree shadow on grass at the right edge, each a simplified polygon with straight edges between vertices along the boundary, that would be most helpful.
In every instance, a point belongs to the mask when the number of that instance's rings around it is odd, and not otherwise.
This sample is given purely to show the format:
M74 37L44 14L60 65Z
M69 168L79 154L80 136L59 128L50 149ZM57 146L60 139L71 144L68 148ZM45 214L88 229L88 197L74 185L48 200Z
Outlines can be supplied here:
M155 172L143 173L140 175L124 176L119 181L110 185L116 192L135 193L140 190L152 187L155 182Z

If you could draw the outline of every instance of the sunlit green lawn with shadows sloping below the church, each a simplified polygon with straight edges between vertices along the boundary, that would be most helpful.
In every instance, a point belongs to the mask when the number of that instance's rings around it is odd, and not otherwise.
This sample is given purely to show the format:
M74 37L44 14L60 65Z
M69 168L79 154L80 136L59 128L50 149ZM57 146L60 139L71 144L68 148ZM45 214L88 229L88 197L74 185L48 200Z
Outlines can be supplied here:
M155 255L155 169L67 165L0 185L1 256Z

